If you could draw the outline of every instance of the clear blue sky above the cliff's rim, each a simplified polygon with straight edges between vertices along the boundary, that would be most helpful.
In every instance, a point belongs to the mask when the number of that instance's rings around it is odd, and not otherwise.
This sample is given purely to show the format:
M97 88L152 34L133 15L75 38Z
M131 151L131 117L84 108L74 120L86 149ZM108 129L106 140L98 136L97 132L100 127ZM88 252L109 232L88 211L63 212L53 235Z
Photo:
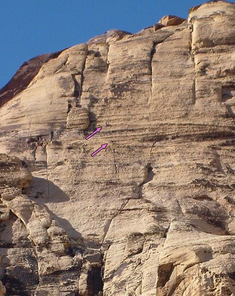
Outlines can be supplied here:
M20 65L110 29L136 33L203 0L1 0L0 88ZM235 2L235 0L231 1Z

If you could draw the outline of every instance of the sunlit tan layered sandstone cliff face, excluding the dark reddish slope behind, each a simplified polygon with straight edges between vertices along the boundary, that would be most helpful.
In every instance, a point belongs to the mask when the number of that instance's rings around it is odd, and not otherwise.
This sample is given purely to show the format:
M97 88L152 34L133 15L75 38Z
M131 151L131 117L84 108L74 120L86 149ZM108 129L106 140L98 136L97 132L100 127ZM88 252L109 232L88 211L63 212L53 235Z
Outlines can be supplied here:
M235 4L167 22L64 50L0 108L2 295L235 295Z

